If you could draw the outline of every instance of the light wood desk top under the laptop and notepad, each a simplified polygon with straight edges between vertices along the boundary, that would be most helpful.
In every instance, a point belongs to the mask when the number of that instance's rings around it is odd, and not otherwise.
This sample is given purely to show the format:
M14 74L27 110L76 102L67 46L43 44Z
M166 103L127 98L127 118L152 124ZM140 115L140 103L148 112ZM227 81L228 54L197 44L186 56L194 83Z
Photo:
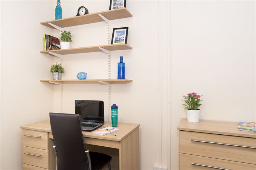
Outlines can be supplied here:
M111 122L105 122L105 124L103 124L103 126L100 127L99 129L101 129L103 127L107 127L107 126L112 126ZM116 127L116 128L118 128L120 130L114 132L114 134L116 134L116 136L114 136L112 134L107 134L107 135L102 136L102 135L94 134L93 132L83 131L83 137L105 139L105 140L110 140L110 141L122 141L125 137L127 137L129 134L131 134L136 129L138 129L139 126L140 126L140 124L118 122L118 127ZM37 130L37 131L45 131L45 132L52 133L52 130L50 127L50 119L43 120L40 122L31 123L31 124L26 124L26 125L20 126L20 128L29 129L29 130Z

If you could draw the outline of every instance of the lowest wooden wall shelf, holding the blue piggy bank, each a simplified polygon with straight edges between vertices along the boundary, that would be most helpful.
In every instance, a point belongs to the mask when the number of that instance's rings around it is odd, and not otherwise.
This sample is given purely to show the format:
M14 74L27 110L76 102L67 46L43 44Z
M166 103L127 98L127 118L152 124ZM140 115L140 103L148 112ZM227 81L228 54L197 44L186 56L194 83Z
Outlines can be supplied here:
M128 80L128 79L85 79L85 80L74 79L74 80L40 80L40 82L49 82L49 83L53 83L53 84L61 84L63 82L100 82L103 84L110 84L111 82L129 83L129 82L132 82L132 80Z

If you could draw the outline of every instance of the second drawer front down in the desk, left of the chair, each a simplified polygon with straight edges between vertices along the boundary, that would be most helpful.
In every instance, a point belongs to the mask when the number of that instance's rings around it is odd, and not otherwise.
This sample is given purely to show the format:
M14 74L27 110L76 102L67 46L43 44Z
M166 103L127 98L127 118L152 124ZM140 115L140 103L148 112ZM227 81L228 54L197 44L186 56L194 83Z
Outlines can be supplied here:
M48 162L48 150L23 146L23 163L48 169Z

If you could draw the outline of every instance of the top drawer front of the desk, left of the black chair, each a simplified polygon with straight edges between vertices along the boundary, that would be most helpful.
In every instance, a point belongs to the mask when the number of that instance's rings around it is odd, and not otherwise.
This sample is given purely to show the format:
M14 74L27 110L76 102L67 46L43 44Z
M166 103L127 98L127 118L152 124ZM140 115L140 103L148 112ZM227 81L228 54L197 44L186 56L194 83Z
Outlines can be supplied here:
M48 150L48 133L36 130L22 130L23 146Z

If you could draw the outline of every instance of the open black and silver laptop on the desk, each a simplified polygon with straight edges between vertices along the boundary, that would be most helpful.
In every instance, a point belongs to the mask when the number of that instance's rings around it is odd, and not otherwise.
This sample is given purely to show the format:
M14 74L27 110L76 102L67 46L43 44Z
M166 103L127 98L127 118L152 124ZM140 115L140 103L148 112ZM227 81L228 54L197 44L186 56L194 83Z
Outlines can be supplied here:
M104 124L104 102L75 100L75 113L81 117L83 131L93 131Z

